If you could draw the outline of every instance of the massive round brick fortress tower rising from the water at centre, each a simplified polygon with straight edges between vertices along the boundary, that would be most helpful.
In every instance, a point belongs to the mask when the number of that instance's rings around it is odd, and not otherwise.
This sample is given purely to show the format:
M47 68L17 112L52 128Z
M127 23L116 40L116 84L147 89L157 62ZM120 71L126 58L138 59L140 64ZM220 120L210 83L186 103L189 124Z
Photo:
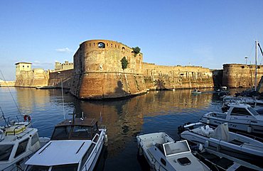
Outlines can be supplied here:
M128 62L122 69L122 59ZM142 54L112 40L87 40L74 55L70 92L80 99L107 99L146 92Z

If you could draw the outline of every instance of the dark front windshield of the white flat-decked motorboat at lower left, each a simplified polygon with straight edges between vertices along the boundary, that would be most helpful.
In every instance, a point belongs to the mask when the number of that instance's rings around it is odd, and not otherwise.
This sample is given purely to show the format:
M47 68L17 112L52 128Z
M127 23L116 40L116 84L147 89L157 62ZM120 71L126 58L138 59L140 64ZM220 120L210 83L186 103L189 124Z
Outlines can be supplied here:
M58 126L55 127L51 140L91 140L92 127L90 126Z

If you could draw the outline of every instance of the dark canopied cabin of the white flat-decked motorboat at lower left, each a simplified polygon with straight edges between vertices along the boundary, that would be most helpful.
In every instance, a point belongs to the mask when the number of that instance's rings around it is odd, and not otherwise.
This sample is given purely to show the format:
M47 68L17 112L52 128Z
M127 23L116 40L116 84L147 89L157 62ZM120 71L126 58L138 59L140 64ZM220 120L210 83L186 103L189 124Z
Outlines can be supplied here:
M96 133L100 135L94 118L67 119L55 126L50 140L92 140Z

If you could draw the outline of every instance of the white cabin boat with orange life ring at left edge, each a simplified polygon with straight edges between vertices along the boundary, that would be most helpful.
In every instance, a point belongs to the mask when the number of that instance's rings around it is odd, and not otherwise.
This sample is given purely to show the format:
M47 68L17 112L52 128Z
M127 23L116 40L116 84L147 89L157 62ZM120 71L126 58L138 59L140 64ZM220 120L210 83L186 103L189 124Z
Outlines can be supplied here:
M30 116L24 118L24 121L4 118L6 124L0 127L0 170L23 170L26 160L50 140L38 138L38 129L31 128Z

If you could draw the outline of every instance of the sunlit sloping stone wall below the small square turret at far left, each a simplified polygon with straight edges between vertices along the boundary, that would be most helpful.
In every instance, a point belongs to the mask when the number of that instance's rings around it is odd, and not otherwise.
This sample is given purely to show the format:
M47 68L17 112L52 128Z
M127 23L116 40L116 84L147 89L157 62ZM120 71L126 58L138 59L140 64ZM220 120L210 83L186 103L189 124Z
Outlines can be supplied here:
M16 87L44 87L48 85L49 73L43 69L21 71L16 77Z

